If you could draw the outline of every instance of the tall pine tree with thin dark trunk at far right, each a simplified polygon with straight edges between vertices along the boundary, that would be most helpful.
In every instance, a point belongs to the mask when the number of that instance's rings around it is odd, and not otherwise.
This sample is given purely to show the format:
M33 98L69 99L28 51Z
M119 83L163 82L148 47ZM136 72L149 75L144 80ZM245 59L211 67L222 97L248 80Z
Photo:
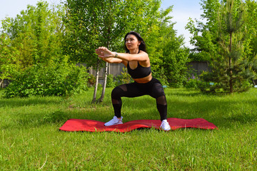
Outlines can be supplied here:
M233 93L235 83L243 81L243 76L235 73L242 73L248 63L243 63L243 53L247 53L247 41L245 26L245 11L246 7L243 2L236 4L235 0L228 0L223 3L218 15L218 43L221 46L221 53L224 55L224 61L228 63L228 81L229 93ZM229 39L228 39L229 38ZM244 46L242 46L244 44ZM246 46L246 47L245 47ZM247 77L246 77L247 79Z

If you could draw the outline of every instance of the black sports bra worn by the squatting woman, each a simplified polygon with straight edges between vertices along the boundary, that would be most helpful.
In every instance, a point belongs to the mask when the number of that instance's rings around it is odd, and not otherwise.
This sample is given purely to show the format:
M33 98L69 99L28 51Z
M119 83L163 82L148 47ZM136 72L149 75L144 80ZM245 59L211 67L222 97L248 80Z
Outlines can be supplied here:
M138 62L138 66L135 69L131 69L129 67L129 61L128 61L128 73L129 75L131 75L132 78L144 78L146 76L149 76L151 73L151 66L149 67L143 67L139 64Z

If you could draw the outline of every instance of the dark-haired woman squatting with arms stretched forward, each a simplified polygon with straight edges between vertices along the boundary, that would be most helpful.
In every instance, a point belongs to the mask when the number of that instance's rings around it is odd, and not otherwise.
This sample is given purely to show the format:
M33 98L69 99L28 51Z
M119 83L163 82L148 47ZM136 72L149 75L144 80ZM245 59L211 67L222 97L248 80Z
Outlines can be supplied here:
M96 49L99 58L104 61L108 63L123 63L134 80L134 83L117 86L112 90L111 101L115 115L112 120L104 125L122 124L121 97L134 98L141 95L151 95L151 97L156 98L157 109L161 115L161 129L171 130L167 122L166 96L161 83L151 75L151 65L146 53L146 43L134 31L127 33L124 41L126 53L112 52L105 47Z

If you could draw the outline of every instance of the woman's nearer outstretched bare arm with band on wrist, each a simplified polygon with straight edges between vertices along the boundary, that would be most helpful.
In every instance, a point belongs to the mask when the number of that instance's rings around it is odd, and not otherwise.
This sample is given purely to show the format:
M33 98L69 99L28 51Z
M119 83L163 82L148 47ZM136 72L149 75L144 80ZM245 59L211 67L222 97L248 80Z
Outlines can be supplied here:
M149 61L148 54L143 51L136 54L115 53L109 51L109 49L106 47L100 47L96 49L96 53L99 55L99 58L115 58L120 59L121 61Z

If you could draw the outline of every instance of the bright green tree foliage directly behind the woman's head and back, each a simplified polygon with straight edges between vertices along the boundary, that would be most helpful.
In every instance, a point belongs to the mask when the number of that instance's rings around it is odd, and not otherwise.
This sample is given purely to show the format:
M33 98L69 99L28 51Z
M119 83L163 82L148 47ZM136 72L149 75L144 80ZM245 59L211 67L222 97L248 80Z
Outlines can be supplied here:
M180 87L186 81L189 50L183 47L183 36L177 36L173 29L172 6L160 10L161 1L140 3L141 13L136 13L138 19L133 21L134 30L141 33L146 41L153 76L166 85ZM143 17L143 11L147 11L146 17Z

